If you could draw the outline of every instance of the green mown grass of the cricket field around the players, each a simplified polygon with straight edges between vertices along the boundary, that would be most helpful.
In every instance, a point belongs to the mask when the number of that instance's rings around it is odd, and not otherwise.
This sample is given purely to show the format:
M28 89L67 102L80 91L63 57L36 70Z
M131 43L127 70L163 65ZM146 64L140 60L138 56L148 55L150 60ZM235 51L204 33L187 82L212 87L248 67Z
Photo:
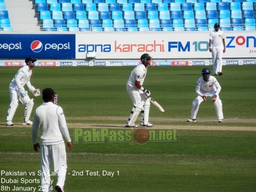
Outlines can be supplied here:
M196 97L195 83L204 66L149 67L144 87L164 109L153 105L150 117L182 118L184 121L161 121L156 125L190 126L192 100ZM124 124L132 103L126 92L126 81L134 67L36 67L31 83L34 87L51 87L59 95L67 123ZM209 66L212 69L211 66ZM0 70L0 121L5 122L10 102L8 85L19 68ZM225 119L255 119L256 66L223 66L223 76L216 78L222 90ZM42 102L34 98L34 109ZM21 123L24 107L14 116ZM32 116L31 116L32 117ZM110 117L103 120L101 117ZM213 104L201 104L197 119L216 119ZM256 188L256 134L244 127L256 127L246 122L197 122L196 126L236 126L227 130L177 130L177 141L147 142L130 145L128 142L83 143L82 138L67 152L68 174L65 192L254 192ZM102 128L109 128L104 127ZM109 130L116 130L109 128ZM85 130L85 129L84 129ZM69 129L73 140L73 129ZM40 154L33 152L29 126L0 127L0 170L36 172L40 170ZM115 172L103 176L102 171ZM88 176L86 171L99 172ZM119 171L119 172L117 172ZM81 175L83 173L83 175ZM119 175L118 175L119 173ZM73 175L74 174L74 175ZM19 183L2 186L37 187L40 183L21 183L24 179L40 179L39 175L6 176L19 178ZM54 184L56 176L52 176ZM1 188L2 189L2 188ZM1 190L3 191L3 190ZM55 190L53 190L55 191Z

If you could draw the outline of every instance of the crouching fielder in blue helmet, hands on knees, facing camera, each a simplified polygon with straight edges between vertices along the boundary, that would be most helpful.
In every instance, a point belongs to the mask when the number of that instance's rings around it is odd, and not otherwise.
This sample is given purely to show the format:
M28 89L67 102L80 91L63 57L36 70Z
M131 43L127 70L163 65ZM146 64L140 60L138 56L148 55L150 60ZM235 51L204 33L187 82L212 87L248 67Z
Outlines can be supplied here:
M221 90L220 84L217 79L211 76L211 71L208 68L202 70L202 76L197 80L196 93L197 98L192 102L191 107L191 116L188 119L188 122L197 121L197 112L201 102L206 101L206 97L210 97L213 101L213 105L216 110L218 122L223 122L223 111L222 111L222 102L219 97Z

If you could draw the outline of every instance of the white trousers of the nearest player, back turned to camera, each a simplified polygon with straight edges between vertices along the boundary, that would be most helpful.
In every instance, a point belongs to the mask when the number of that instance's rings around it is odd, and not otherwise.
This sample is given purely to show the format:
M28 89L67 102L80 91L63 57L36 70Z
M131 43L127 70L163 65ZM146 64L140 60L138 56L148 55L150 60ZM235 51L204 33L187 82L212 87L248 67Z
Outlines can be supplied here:
M65 143L58 145L40 145L41 155L41 185L43 192L48 192L50 186L50 168L53 161L54 171L57 175L57 184L64 187L66 178L66 149ZM54 188L54 187L53 187Z

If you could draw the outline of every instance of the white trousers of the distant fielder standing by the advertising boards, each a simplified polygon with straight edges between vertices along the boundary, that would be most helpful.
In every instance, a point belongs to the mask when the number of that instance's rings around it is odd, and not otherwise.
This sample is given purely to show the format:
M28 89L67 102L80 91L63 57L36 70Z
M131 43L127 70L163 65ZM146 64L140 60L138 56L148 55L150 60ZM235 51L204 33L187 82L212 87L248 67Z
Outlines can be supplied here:
M217 74L222 72L222 55L223 55L223 46L212 46L211 55L213 57L213 72Z

